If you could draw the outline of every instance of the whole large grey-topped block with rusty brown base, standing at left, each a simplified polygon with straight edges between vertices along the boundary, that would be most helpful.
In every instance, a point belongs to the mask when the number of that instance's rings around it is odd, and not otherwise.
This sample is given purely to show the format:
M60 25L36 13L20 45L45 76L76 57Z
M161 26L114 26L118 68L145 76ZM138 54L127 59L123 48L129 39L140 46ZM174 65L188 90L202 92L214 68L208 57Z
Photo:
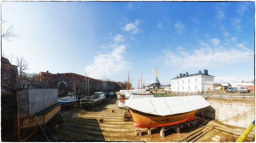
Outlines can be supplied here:
M18 89L13 91L13 123L16 141L26 141L45 126L55 129L58 114L57 89Z

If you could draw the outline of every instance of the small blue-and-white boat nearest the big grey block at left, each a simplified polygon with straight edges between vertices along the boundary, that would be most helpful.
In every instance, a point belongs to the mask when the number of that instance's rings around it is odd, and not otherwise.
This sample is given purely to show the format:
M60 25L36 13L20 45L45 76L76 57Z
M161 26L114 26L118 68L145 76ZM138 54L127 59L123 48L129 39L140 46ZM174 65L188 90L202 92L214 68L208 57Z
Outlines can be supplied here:
M76 98L76 95L74 94L68 94L65 97L58 98L58 103L61 104L61 108L65 108L71 105L76 104L78 101L78 98Z

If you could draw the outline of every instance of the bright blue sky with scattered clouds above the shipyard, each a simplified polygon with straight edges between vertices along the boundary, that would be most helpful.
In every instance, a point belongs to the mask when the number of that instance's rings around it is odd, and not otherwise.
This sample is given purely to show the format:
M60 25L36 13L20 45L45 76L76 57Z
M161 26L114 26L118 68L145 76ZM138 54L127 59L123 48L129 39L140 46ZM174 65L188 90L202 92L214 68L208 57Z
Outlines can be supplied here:
M254 2L2 2L5 56L25 72L77 73L137 88L208 70L214 82L254 79ZM14 57L13 56L13 57ZM13 60L12 64L15 64Z

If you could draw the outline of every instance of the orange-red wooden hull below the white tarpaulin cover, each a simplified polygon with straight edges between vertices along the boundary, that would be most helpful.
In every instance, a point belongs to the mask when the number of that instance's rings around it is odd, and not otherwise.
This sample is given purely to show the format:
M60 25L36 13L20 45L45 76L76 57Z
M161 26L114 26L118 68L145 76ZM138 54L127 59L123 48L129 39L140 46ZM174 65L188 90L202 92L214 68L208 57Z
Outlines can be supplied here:
M155 116L148 115L145 113L135 112L131 109L128 110L132 115L133 125L135 128L151 128L151 127L163 127L176 125L183 122L191 121L195 119L195 114L197 110L181 113L179 115L171 115L171 116Z

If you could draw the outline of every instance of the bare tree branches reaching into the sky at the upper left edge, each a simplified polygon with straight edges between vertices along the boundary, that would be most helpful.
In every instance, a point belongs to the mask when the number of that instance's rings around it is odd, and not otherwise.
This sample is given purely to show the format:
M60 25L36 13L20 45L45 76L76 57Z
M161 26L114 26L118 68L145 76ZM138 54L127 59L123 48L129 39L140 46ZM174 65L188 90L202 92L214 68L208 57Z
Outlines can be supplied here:
M4 26L4 23L7 23L8 21L1 19L1 24L2 24L2 28L1 28L1 39L5 39L8 41L12 41L11 38L16 38L19 37L19 34L16 34L13 30L13 25L9 24L8 26Z

